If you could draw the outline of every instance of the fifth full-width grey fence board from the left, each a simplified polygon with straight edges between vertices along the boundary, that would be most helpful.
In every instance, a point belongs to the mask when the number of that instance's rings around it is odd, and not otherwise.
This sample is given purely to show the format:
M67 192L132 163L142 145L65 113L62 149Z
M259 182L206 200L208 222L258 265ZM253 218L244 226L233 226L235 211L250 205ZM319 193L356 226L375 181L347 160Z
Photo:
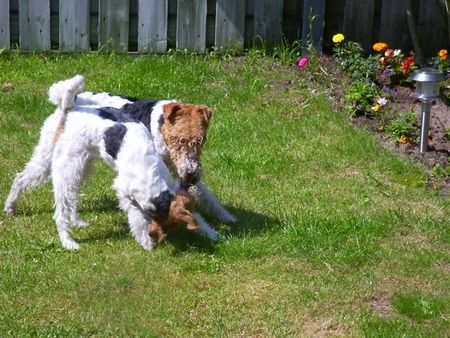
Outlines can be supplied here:
M206 49L206 0L178 0L177 49Z

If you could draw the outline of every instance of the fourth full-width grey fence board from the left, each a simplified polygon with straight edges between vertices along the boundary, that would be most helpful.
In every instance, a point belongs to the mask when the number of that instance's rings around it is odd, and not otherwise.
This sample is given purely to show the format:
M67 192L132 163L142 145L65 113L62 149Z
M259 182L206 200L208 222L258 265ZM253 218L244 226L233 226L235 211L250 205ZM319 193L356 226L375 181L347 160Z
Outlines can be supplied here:
M167 49L167 0L139 0L138 51L164 53Z

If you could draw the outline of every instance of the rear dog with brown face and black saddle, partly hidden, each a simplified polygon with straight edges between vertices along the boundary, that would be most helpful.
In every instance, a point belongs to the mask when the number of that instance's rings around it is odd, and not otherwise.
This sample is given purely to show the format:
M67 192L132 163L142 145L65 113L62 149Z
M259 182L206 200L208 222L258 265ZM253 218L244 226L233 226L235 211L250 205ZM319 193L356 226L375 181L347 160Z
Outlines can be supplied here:
M109 93L84 92L76 104L95 105L100 116L112 121L139 120L150 131L156 151L162 156L174 179L194 195L202 212L224 223L235 223L217 197L200 180L201 149L212 111L203 105L176 101L136 100Z

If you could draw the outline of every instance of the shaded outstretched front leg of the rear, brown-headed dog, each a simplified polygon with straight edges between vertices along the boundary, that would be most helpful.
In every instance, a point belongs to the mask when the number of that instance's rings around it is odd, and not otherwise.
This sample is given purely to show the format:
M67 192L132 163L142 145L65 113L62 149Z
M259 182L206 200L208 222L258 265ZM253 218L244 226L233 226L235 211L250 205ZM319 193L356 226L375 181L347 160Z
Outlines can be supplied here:
M197 206L205 213L216 217L223 223L236 223L236 217L229 213L227 209L220 204L217 197L201 181L194 187L190 188L189 192L195 196Z

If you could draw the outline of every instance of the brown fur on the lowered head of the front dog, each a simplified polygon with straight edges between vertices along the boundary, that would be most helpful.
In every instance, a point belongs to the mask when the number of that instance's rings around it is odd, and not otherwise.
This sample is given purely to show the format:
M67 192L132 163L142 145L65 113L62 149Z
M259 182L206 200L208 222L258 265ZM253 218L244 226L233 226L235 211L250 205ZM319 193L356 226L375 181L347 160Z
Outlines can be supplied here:
M167 223L160 223L156 220L152 220L148 226L148 232L150 237L156 242L161 242L166 233L176 226L186 224L189 230L195 230L198 228L198 223L192 215L194 208L194 199L192 196L183 189L178 189L175 194L175 198L170 204L169 217Z

